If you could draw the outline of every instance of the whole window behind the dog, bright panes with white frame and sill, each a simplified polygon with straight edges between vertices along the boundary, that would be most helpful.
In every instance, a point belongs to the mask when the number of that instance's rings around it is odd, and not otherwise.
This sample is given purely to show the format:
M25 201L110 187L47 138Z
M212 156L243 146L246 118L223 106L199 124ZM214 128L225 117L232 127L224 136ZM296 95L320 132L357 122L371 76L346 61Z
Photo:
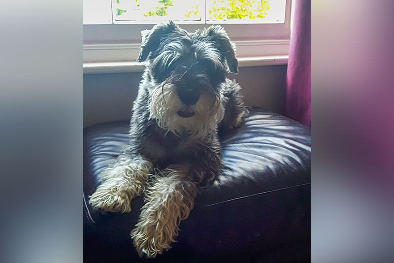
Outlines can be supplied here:
M291 0L83 0L84 72L92 63L123 63L122 70L141 70L135 63L140 32L167 20L188 31L223 25L236 43L240 66L259 65L270 57L283 64L290 17Z

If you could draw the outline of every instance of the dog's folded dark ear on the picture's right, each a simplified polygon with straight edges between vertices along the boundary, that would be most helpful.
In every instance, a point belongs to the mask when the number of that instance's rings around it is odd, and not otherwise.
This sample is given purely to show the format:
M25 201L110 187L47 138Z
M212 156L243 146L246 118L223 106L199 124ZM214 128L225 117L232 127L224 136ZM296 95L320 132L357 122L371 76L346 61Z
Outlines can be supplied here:
M230 72L238 73L238 60L235 58L235 44L221 25L211 26L199 32L203 39L212 42L221 56L226 59Z

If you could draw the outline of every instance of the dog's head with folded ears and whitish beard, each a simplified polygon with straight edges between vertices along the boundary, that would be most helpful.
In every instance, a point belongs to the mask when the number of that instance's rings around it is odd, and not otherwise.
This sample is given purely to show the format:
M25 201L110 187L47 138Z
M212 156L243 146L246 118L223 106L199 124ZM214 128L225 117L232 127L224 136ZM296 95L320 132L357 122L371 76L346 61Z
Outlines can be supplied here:
M188 33L173 22L142 32L150 117L175 134L203 136L222 120L221 83L238 72L235 46L215 25Z

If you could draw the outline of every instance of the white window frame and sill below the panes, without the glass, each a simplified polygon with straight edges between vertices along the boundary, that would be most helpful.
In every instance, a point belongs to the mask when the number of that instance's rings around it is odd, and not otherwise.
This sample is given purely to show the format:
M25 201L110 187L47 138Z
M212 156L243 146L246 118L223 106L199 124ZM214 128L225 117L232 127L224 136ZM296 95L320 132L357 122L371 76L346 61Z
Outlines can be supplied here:
M291 7L292 0L286 0L285 23L221 24L236 44L239 67L287 64ZM178 24L187 31L211 25ZM140 32L152 27L153 24L83 25L83 73L143 71L144 64L136 62L141 43Z

